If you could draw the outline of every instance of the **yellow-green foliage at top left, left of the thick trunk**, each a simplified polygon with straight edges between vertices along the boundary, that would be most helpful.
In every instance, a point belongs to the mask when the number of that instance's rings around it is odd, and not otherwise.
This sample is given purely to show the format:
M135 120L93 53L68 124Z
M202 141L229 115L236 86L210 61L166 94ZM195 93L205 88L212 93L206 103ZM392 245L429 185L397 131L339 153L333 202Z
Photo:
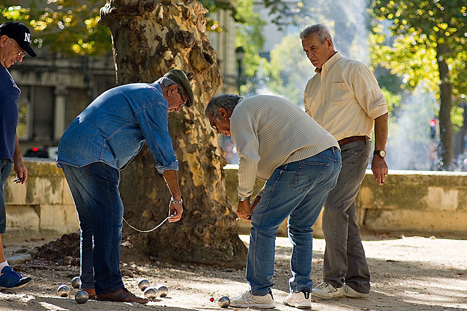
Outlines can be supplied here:
M97 23L104 4L104 0L32 0L25 8L1 3L0 19L26 24L37 48L47 45L51 52L67 56L100 55L112 49L110 29Z

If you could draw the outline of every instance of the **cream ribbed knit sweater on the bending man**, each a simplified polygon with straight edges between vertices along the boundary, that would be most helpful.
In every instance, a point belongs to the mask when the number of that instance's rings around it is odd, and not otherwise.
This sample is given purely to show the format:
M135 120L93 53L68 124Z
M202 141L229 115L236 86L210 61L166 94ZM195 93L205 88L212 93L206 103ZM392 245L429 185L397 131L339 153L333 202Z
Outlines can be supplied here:
M242 197L253 194L256 177L268 180L285 163L339 147L313 118L277 96L241 100L230 117L230 132L240 158L237 190Z

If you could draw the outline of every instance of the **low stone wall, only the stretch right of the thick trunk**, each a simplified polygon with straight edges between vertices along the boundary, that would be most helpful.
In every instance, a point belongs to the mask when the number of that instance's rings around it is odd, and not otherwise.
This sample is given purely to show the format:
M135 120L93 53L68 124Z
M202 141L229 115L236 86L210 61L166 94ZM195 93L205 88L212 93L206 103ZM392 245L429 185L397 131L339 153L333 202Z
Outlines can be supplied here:
M238 203L237 167L226 166L226 188L233 205ZM264 181L256 180L255 192ZM367 170L356 198L360 228L369 232L398 232L407 235L451 235L467 237L467 173L389 170L378 186ZM313 236L322 237L321 214ZM251 224L239 220L240 232L248 234ZM279 236L287 236L284 221Z

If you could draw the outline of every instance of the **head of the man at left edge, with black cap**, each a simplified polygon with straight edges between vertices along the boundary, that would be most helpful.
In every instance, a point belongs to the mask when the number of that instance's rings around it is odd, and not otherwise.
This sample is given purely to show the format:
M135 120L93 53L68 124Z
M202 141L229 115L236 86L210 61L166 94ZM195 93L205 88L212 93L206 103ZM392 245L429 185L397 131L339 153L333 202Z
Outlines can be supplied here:
M0 25L0 63L8 68L15 62L21 62L26 53L35 57L29 46L31 33L28 27L20 22L7 22Z

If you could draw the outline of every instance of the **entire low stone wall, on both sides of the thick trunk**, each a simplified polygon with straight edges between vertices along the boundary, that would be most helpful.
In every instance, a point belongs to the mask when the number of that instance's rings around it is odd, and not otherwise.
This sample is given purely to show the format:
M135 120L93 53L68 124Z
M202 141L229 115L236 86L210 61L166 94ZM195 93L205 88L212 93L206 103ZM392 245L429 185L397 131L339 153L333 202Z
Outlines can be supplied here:
M70 189L55 161L28 160L28 180L24 185L5 185L7 232L64 234L79 229L78 215ZM236 207L237 168L225 168L226 189ZM256 180L256 194L264 182ZM467 173L389 171L383 186L378 186L367 170L356 199L357 219L363 230L401 232L417 235L457 235L467 237ZM251 224L239 220L241 234L248 234ZM313 235L322 237L321 215L313 226ZM279 236L287 236L284 221Z

